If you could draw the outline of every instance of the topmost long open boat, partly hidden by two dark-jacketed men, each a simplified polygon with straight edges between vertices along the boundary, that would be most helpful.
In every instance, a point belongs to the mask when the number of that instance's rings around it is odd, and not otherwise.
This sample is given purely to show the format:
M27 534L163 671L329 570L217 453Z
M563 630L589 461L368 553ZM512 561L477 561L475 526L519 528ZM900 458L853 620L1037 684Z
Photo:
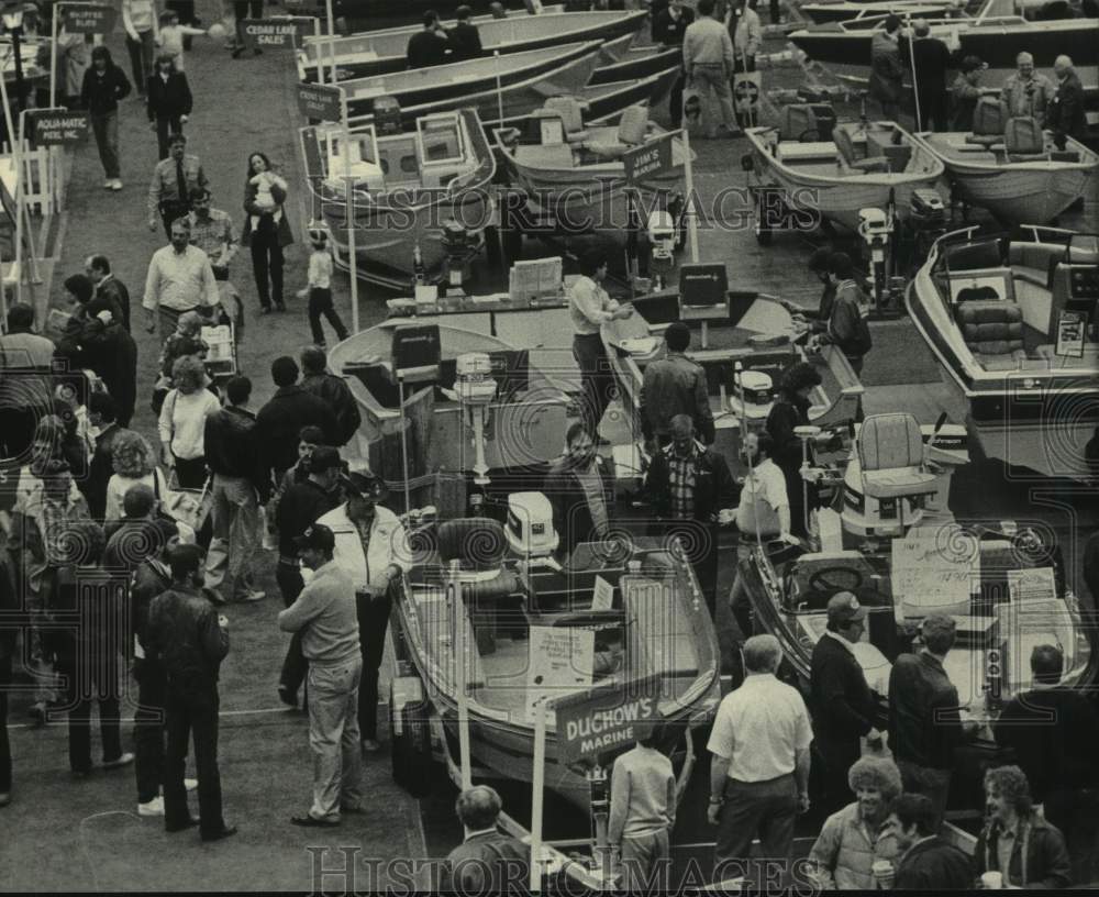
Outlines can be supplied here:
M598 40L604 42L604 60L614 62L629 49L644 20L644 10L559 12L489 19L480 22L477 29L484 56L493 53L503 56ZM409 37L422 30L422 25L410 25L346 37L306 37L298 53L299 74L303 80L317 80L318 64L324 69L324 79L330 82L333 65L341 81L403 71L407 68Z

